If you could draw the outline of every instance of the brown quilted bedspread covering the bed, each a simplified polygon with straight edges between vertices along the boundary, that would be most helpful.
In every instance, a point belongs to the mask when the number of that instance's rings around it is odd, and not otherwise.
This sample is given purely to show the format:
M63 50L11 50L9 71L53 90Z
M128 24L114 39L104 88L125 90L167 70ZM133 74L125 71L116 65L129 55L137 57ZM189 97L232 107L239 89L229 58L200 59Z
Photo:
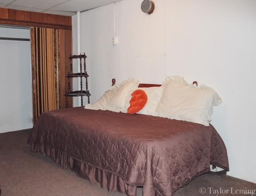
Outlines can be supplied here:
M144 196L171 196L210 164L229 168L212 125L141 114L82 107L45 112L29 140L143 186Z

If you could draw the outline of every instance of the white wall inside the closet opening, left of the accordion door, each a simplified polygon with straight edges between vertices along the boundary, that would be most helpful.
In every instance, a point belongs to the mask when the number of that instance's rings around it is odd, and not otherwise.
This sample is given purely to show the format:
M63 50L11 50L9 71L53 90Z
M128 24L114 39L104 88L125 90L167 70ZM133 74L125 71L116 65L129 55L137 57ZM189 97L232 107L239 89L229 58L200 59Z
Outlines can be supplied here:
M29 29L1 28L0 37L30 38ZM32 128L30 42L0 40L0 133Z

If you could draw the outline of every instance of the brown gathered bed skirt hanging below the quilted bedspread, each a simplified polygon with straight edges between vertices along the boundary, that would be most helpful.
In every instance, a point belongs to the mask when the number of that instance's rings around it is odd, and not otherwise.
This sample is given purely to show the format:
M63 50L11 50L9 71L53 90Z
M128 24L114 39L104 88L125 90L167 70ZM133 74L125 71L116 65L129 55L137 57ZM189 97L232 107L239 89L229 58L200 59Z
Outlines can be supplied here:
M118 191L125 193L128 196L136 196L137 186L127 184L121 177L116 176L115 174L96 168L81 162L80 160L76 160L64 152L45 144L40 144L38 142L28 143L31 144L32 152L41 152L50 156L55 163L60 164L63 169L70 168L70 170L76 172L79 177L89 180L93 185L100 185L109 192Z

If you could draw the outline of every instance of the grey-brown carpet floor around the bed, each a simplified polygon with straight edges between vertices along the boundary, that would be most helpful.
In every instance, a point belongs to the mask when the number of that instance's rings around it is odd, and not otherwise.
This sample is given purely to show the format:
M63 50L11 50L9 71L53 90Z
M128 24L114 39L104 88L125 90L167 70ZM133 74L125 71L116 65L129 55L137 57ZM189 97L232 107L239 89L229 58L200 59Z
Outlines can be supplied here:
M26 143L29 133L30 130L21 130L0 134L1 196L125 196L93 186L69 169L63 170L51 158L30 152L30 145ZM201 187L206 188L205 194L200 194ZM209 172L180 188L174 196L215 196L210 190L213 192L220 187L228 189L229 194L218 195L227 196L233 195L231 188L233 192L236 189L252 190L256 189L256 184ZM137 195L142 195L142 188L138 188Z

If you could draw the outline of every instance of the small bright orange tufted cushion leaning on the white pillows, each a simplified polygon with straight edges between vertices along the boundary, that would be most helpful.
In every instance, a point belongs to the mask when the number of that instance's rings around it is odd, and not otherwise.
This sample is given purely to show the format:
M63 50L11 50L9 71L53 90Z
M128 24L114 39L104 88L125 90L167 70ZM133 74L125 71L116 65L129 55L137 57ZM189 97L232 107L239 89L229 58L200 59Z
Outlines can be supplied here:
M144 90L134 90L132 98L130 100L130 107L128 108L128 114L135 114L142 110L148 101L148 96Z

